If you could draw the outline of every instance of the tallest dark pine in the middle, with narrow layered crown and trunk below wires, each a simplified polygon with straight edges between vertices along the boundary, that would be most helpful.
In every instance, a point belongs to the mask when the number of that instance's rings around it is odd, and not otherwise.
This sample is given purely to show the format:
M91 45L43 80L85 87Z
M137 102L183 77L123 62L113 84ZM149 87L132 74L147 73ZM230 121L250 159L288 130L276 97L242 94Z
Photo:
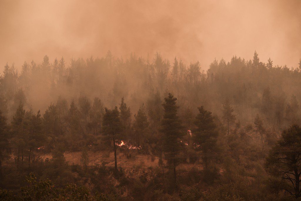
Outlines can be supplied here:
M179 117L177 115L178 106L176 105L177 98L175 98L171 93L168 94L166 98L164 98L165 102L162 104L164 108L163 119L161 120L161 129L160 131L163 133L162 136L162 147L163 151L167 153L167 155L176 155L181 149L180 146L180 138L184 136L184 132L182 131L183 127ZM174 172L174 185L177 189L177 174L176 174L176 166L177 159L168 159L169 164L173 166Z

